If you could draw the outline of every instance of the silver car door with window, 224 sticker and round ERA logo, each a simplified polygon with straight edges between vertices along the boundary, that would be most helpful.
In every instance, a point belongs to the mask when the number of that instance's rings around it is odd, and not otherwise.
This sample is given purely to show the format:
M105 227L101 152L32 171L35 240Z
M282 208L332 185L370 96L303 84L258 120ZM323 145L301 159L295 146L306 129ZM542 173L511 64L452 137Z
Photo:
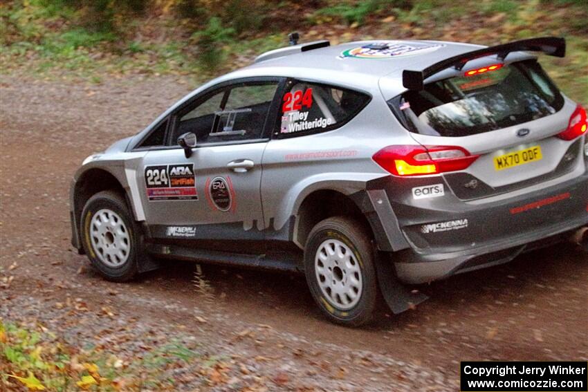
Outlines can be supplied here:
M170 118L167 148L143 158L138 184L149 232L178 240L262 240L259 186L268 118L280 80L230 82L197 96ZM178 145L196 135L189 158ZM202 244L201 244L202 245Z

